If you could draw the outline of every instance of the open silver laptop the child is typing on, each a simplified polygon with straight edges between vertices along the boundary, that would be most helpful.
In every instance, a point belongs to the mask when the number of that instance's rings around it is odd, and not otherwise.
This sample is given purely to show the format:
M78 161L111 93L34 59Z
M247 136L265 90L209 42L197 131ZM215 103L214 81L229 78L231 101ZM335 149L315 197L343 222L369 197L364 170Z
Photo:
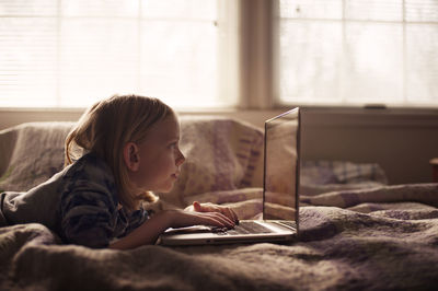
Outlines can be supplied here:
M241 220L234 229L195 225L169 229L161 245L290 242L299 231L300 109L265 121L263 216Z

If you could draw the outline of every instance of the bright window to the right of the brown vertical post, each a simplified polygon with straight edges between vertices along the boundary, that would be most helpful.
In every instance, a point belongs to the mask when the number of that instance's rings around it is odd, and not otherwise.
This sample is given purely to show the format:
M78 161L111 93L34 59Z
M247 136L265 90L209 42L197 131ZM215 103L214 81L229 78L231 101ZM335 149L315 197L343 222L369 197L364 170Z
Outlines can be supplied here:
M279 102L438 106L438 1L280 0Z

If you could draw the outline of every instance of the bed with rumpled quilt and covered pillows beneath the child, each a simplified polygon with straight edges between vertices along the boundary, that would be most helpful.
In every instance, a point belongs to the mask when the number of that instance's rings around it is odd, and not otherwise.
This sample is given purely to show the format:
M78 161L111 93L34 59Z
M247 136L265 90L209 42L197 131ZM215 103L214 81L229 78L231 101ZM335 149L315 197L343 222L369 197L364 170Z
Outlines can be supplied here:
M151 211L194 200L260 218L263 131L182 117L186 163ZM24 191L62 167L72 123L0 131L0 189ZM206 162L207 161L207 162ZM300 236L289 244L132 251L62 245L37 223L0 228L0 290L428 290L438 287L438 184L388 185L372 163L304 161Z

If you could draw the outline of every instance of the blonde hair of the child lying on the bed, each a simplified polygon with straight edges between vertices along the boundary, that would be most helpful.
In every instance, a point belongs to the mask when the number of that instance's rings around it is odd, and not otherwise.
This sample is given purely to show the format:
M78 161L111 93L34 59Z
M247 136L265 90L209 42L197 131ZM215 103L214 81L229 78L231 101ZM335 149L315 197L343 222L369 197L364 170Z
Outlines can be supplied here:
M115 177L120 203L130 210L141 200L152 202L157 197L138 189L129 183L128 170L123 159L127 142L141 142L149 129L174 112L158 98L138 95L114 95L95 103L79 119L67 136L65 166L72 164L84 151L103 159Z

